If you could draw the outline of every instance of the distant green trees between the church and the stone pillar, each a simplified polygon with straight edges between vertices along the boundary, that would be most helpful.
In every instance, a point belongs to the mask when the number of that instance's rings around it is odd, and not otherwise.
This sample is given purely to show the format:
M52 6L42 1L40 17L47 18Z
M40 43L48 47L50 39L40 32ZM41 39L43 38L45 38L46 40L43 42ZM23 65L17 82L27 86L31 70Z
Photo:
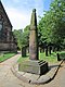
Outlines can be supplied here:
M24 28L24 32L22 29L14 29L13 32L16 40L17 40L17 47L20 49L22 49L22 47L25 47L25 46L28 46L28 41L29 41L29 25L27 25L25 28Z

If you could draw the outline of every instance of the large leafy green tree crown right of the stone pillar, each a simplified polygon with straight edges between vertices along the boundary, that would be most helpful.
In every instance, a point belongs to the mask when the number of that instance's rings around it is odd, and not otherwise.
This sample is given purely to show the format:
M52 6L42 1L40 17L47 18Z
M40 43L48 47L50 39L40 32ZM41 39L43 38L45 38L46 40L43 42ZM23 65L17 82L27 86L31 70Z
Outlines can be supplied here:
M54 0L38 25L40 42L61 46L65 39L65 0Z

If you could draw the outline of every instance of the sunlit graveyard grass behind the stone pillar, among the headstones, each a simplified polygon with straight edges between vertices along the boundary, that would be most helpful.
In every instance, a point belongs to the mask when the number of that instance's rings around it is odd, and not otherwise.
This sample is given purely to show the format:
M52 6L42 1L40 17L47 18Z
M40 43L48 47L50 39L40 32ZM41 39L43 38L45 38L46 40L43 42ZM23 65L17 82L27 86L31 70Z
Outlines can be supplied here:
M56 53L57 53L57 52L56 52ZM39 60L44 60L44 61L47 61L47 62L49 62L49 63L56 63L56 62L57 62L56 53L55 53L55 52L52 52L52 54L51 54L51 55L48 55L48 57L46 57L46 53L44 53L44 52L39 53ZM60 53L60 57L61 57L62 59L65 58L65 51L61 51L61 52L58 52L58 53ZM18 60L17 62L21 63L21 62L23 62L23 61L25 61L25 60L29 60L29 55L27 55L27 57L25 57L25 58L20 58L20 60Z

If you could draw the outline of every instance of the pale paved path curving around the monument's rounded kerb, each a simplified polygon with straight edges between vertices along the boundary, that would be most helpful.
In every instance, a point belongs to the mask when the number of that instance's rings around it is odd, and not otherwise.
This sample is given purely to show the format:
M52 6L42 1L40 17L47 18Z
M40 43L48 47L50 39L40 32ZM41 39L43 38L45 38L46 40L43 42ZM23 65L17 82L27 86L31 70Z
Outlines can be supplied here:
M20 80L11 72L12 65L17 61L21 54L0 63L0 87L65 87L65 63L58 70L55 78L46 85L30 85Z

